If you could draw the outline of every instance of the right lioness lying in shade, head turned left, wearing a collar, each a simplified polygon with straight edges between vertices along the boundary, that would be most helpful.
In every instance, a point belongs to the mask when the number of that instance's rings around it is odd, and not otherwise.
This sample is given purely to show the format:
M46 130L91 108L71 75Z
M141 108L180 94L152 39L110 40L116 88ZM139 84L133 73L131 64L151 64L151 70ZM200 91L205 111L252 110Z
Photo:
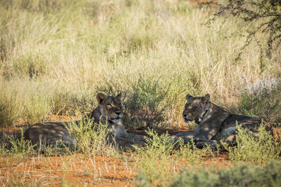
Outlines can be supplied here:
M194 132L178 133L172 139L181 137L185 143L193 139L198 147L216 144L218 140L222 140L225 145L234 145L237 133L236 124L241 124L242 127L249 129L254 137L259 136L258 128L261 124L261 118L230 113L223 107L210 102L209 94L204 97L186 95L186 100L183 119L185 123L191 123L192 120L195 120L195 123L198 124L197 128ZM266 130L269 130L268 126L266 126Z

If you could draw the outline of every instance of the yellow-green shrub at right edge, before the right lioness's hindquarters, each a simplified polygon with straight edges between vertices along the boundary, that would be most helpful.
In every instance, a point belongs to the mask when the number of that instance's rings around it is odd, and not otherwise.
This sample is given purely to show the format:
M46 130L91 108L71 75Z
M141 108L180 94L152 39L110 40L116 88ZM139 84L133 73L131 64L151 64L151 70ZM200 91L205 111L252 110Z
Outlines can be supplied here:
M273 139L265 125L259 127L259 137L254 137L247 129L237 125L237 146L225 146L230 160L268 162L280 158L280 139Z

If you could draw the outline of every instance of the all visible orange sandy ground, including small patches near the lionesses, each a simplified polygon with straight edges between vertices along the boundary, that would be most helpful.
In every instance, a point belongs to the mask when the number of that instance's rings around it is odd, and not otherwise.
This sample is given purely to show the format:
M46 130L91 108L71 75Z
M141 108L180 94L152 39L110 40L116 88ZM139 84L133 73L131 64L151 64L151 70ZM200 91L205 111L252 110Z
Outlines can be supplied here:
M53 116L52 121L64 122L67 117ZM184 124L183 124L184 125ZM25 125L16 125L2 132L13 132ZM185 128L185 129L184 129ZM183 126L183 130L157 130L159 134L177 134L190 131ZM135 130L136 134L143 134L143 130ZM273 130L275 137L281 137L281 129ZM43 155L18 159L14 156L0 157L0 186L11 183L11 186L134 186L136 176L136 162L133 155L123 152L126 159L110 157L89 157L83 154L46 157ZM124 156L125 158L125 156ZM182 166L188 162L178 160ZM230 164L228 152L221 151L217 157L204 156L199 163L209 167L226 167Z

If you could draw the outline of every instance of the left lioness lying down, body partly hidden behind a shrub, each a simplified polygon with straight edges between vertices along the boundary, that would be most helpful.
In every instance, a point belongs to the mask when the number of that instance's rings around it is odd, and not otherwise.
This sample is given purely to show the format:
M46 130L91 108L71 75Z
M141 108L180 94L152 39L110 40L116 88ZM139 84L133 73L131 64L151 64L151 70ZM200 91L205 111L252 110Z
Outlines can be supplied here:
M143 144L145 139L141 135L126 132L122 124L122 95L117 97L105 96L102 93L96 95L98 106L90 114L94 123L107 123L110 132L114 135L115 141L119 146L131 146L133 144ZM63 144L72 145L75 138L65 127L67 123L37 123L29 127L24 137L32 141L32 144L39 144L45 141L46 144L56 144L57 141Z

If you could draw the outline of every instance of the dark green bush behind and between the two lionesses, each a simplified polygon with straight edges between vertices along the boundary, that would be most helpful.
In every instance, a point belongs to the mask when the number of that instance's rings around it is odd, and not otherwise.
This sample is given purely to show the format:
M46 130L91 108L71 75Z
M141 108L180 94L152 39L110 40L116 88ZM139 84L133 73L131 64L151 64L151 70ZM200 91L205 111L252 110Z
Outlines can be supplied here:
M156 127L164 120L166 88L152 78L139 78L124 100L124 124ZM136 127L136 126L135 126ZM130 125L130 128L133 128Z

